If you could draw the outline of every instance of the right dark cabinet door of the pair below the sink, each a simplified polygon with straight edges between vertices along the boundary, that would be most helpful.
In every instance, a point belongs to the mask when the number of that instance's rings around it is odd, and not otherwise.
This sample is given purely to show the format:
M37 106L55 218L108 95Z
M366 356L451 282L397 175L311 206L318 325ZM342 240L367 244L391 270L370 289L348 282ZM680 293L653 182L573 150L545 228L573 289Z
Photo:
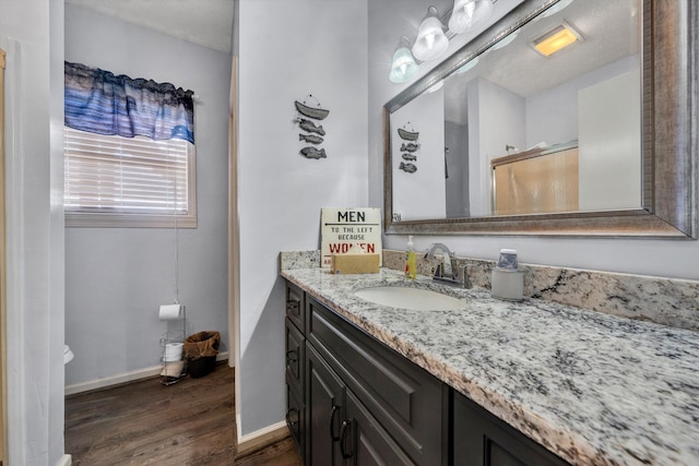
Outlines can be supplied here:
M340 434L340 454L346 466L414 465L379 422L346 392L346 419Z

